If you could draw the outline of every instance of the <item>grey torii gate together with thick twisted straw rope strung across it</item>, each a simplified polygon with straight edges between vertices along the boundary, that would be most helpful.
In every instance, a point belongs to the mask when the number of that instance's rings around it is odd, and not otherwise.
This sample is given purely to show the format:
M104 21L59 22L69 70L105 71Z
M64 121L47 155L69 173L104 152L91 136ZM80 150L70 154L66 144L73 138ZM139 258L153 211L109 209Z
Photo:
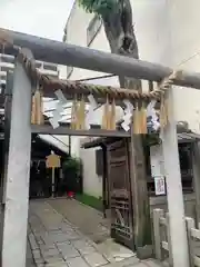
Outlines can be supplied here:
M33 68L34 56L38 60L49 61L58 65L70 65L114 75L124 75L138 79L146 79L160 82L169 77L172 70L149 62L124 58L111 53L100 52L87 48L66 44L48 39L27 36L19 32L0 30L0 33L9 38L4 52L17 56L13 72L13 82L9 79L7 90L12 89L12 110L10 128L10 146L8 159L8 175L6 188L6 210L3 229L2 266L24 267L26 245L27 245L27 218L28 218L28 192L29 192L29 169L31 132L52 131L50 128L31 128L31 97L34 81L40 80L43 92L53 95L53 89L62 88L68 99L74 93L88 95L93 92L99 102L104 102L106 95L112 96L116 100L136 98L159 98L161 91L151 93L138 93L126 89L104 88L93 90L81 87L69 81L60 82L49 80ZM1 36L0 34L0 36ZM19 48L27 49L19 49ZM28 50L29 49L29 50ZM33 56L32 56L33 55ZM181 72L172 79L173 85L187 86L200 89L200 73ZM50 90L52 89L52 90ZM76 92L73 91L76 89ZM163 129L163 155L166 167L166 180L168 188L168 207L170 215L171 245L173 255L173 266L189 267L188 243L184 222L184 208L181 187L181 176L178 155L177 129L173 116L173 89L168 90L169 123ZM24 100L26 99L26 100ZM61 129L62 132L64 129ZM59 130L58 130L59 131ZM58 132L52 131L53 134ZM76 134L71 129L66 129L67 134ZM79 135L87 136L126 136L126 132L80 131ZM129 134L130 135L130 134ZM14 179L18 177L18 179ZM137 180L136 180L137 182ZM137 196L136 196L137 197Z

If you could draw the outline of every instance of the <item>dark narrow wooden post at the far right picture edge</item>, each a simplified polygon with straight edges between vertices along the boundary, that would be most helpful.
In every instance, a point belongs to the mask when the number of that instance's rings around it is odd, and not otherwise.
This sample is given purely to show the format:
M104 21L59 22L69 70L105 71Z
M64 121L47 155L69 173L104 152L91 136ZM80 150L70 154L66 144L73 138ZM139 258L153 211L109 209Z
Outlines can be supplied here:
M193 189L196 194L196 218L197 226L200 225L200 147L198 142L192 146L192 170L193 170Z

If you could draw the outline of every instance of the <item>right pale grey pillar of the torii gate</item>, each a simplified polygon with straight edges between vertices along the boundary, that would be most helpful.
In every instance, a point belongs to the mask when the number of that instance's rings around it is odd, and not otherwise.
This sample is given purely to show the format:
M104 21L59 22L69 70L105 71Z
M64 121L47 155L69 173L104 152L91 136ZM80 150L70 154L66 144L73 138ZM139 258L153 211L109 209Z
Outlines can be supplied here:
M173 89L168 91L169 123L162 134L167 197L170 216L173 267L189 267L188 240L184 221L184 204L179 164L177 123L173 111Z

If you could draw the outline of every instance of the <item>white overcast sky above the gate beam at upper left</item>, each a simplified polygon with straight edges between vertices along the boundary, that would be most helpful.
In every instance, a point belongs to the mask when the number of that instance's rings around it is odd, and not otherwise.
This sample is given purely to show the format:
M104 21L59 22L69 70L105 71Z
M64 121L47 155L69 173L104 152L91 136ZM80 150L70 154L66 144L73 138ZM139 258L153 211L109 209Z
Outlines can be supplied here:
M0 0L0 28L62 40L73 0Z

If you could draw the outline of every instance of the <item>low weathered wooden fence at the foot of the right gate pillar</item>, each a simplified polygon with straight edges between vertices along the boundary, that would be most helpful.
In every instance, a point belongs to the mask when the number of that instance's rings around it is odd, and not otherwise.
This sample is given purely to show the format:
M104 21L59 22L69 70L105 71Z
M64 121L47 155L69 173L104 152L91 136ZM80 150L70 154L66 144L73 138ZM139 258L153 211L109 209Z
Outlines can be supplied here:
M169 220L169 214L166 214L164 217L162 209L153 210L156 258L161 261L168 258L169 265L173 266ZM192 218L187 217L186 225L188 230L190 266L200 267L200 229L196 228L194 219Z

